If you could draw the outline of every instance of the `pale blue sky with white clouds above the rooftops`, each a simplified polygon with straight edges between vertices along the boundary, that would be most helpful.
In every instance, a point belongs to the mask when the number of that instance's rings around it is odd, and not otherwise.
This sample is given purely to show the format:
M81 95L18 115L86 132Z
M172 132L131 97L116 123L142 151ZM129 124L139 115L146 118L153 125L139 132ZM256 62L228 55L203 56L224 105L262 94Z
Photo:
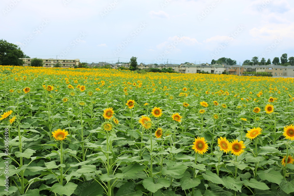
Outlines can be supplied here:
M31 58L243 63L294 56L294 1L1 0L0 39Z

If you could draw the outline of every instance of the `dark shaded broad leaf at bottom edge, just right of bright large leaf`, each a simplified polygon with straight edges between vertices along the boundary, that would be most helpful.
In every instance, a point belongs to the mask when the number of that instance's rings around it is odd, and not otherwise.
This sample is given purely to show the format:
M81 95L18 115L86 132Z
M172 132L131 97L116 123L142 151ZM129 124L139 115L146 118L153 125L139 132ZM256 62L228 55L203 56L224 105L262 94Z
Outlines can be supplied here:
M103 187L97 182L82 182L78 184L78 187L74 191L74 194L77 196L96 196L103 195Z

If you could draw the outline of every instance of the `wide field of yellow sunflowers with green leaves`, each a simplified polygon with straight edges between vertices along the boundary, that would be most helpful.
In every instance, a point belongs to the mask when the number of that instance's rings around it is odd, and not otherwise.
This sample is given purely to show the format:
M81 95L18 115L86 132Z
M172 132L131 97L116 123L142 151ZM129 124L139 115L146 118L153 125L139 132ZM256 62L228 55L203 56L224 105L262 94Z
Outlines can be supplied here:
M293 78L0 66L0 195L294 192Z

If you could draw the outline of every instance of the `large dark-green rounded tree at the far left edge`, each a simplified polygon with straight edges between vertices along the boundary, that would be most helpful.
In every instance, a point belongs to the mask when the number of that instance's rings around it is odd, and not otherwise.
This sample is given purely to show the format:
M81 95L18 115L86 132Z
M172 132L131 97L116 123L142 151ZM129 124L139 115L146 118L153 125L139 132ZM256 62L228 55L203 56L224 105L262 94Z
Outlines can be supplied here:
M20 66L24 62L19 59L23 58L24 53L20 47L6 40L0 40L0 65L15 65Z

